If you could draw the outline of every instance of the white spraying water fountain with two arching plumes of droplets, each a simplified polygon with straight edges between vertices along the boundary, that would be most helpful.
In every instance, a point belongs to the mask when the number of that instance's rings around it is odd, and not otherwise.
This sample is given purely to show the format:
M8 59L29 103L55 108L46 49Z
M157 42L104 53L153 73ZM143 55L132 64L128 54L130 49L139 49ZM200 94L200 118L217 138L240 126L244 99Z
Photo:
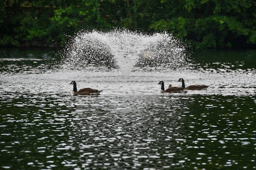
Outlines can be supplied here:
M186 45L171 34L145 35L128 30L79 32L67 43L62 64L119 67L128 76L134 66L186 65Z

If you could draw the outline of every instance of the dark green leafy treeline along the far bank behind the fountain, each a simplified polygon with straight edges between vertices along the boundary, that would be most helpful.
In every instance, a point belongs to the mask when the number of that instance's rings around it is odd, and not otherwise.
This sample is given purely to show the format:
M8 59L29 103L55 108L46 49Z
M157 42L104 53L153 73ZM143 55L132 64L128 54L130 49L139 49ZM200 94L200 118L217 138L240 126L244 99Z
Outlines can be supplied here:
M167 31L195 49L255 48L255 0L1 0L0 46L58 46L77 31Z

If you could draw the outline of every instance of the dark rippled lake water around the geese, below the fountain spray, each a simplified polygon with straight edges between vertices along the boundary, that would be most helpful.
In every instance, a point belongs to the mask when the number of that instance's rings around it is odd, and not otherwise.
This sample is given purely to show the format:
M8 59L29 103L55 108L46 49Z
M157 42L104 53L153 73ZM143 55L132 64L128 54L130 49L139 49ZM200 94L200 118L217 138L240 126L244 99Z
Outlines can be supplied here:
M256 50L194 51L189 69L59 67L0 49L0 169L256 169ZM210 85L204 91L160 93ZM72 95L78 89L101 95Z

